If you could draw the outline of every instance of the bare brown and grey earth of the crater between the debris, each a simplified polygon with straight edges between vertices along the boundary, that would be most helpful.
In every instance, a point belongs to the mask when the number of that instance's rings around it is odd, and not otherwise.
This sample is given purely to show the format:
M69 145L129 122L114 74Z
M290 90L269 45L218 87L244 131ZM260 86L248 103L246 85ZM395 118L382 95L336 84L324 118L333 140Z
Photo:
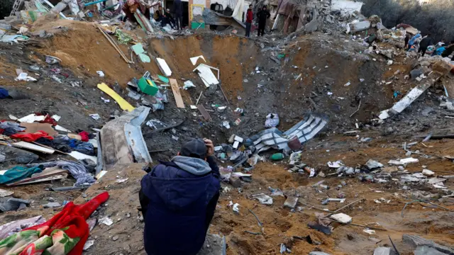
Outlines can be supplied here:
M58 26L64 28L56 28ZM0 86L17 89L30 97L21 100L2 99L0 119L8 119L10 114L20 118L33 112L44 111L61 115L59 124L71 130L100 128L109 121L111 115L121 115L121 109L113 100L104 103L101 96L108 96L96 89L96 84L106 82L136 106L139 102L126 96L127 81L133 77L139 78L147 70L152 74L159 73L154 62L138 63L137 57L134 57L135 64L126 64L106 38L90 23L59 21L38 24L34 29L49 30L55 35L40 39L40 47L0 44ZM267 113L279 114L280 130L287 130L299 122L305 113L311 111L328 116L328 126L314 140L304 145L302 157L303 162L317 171L323 171L324 174L333 172L326 166L328 161L341 159L348 166L356 166L365 164L368 159L375 159L385 164L389 159L405 157L402 143L420 141L414 138L415 135L426 135L428 132L448 133L454 129L453 121L444 118L448 113L438 107L437 96L441 95L438 86L429 89L406 111L386 120L382 125L372 121L377 113L389 108L399 99L393 98L394 91L405 94L414 86L412 81L404 80L404 75L410 72L411 60L399 56L395 64L387 66L384 57L363 54L365 47L351 40L345 42L348 40L345 37L332 38L315 33L300 36L290 42L272 40L273 38L254 41L232 35L199 33L174 39L153 38L143 45L150 55L162 57L167 61L172 69L172 77L178 79L179 86L183 83L181 79L191 79L196 88L182 90L186 109L176 108L170 91L170 103L165 105L165 110L150 113L148 118L160 119L168 124L186 118L183 125L175 128L175 134L169 130L146 138L148 149L168 149L167 152L153 153L153 159L169 159L176 154L182 140L189 137L210 137L218 144L226 142L232 134L243 137L254 135L263 129ZM131 55L128 47L121 45L121 48L127 56ZM277 64L270 59L270 56L276 57L279 53L287 54L288 61L284 58ZM43 55L60 57L62 62L55 65L46 64ZM196 55L204 55L206 64L221 69L221 87L229 103L219 89L211 94L208 90L207 93L204 84L192 72L194 66L189 62L189 57ZM29 71L31 64L37 64L41 69ZM53 75L50 69L55 67L68 75L67 78L57 75L62 79L61 84L50 78ZM260 73L255 72L256 67L259 67ZM14 81L17 68L27 70L33 77L39 77L38 81ZM395 76L397 69L400 74ZM96 71L99 70L106 74L105 78L97 77ZM300 79L295 80L299 74ZM359 79L365 81L360 82ZM390 80L393 81L392 84L381 84L381 81ZM70 81L82 81L82 87L73 87ZM348 81L350 86L344 86ZM263 86L258 88L258 84ZM213 118L211 122L206 122L198 111L194 116L194 111L187 110L189 104L195 104L201 91L204 91L204 94L199 103L210 111ZM329 96L328 92L333 95ZM360 111L350 118L360 101ZM212 104L228 106L228 109L218 113ZM237 107L244 109L243 115L234 112ZM101 119L93 120L89 117L90 113L99 113ZM238 126L232 125L236 118L242 120ZM222 120L230 121L232 128L223 128ZM372 142L360 143L356 137L339 135L341 132L355 130L355 123L359 125L360 137L371 137ZM143 127L144 133L149 130L150 128ZM179 140L172 140L171 135L176 135ZM453 174L453 162L440 158L445 155L454 156L453 140L436 140L424 144L427 147L419 143L412 149L419 149L421 153L431 157L419 157L418 164L411 164L406 169L421 171L424 165L439 175ZM2 167L6 169L9 165L4 164ZM336 175L327 176L325 179L309 179L307 175L289 173L286 167L284 162L258 164L252 171L253 182L244 183L240 191L223 184L231 188L231 191L223 192L210 232L227 237L228 254L278 254L281 243L288 244L292 254L307 254L317 249L330 254L372 254L377 245L390 244L387 235L397 244L401 254L412 254L412 250L402 244L402 234L419 234L442 244L454 244L452 212L414 203L406 208L404 217L400 215L404 204L412 198L431 193L434 194L433 203L453 210L453 199L440 199L443 195L440 191L425 186L409 186L408 190L403 190L403 185L394 181L382 184L365 183L358 178L339 178ZM144 254L143 222L140 222L137 210L139 181L144 174L140 169L139 165L120 167L116 173L110 173L106 179L82 192L55 193L44 190L50 185L72 185L71 180L14 188L14 196L33 200L32 206L21 212L0 215L0 223L35 215L50 218L60 209L43 209L42 205L48 203L49 197L60 203L63 200L82 203L106 190L111 194L111 198L93 217L108 215L114 220L114 225L98 225L94 228L92 238L95 239L95 244L87 254ZM117 176L127 176L129 179L126 183L116 183ZM331 186L328 191L312 187L321 180ZM338 188L341 181L345 181L347 185ZM448 180L445 185L451 190L454 188L452 180ZM328 210L336 210L346 203L365 198L362 203L346 208L343 212L352 216L355 224L369 225L378 222L387 231L377 230L375 235L370 236L362 232L363 227L343 225L334 226L331 235L317 232L309 229L307 223L315 222L314 212L321 212L320 210L301 204L301 211L290 212L282 207L285 200L283 197L274 197L275 201L271 206L261 205L250 197L254 193L269 194L268 187L280 188L286 196L297 192L304 203ZM345 193L347 198L344 204L330 202L328 205L321 205L323 198L335 198L340 192ZM391 202L374 202L380 198ZM227 207L230 201L240 204L239 215ZM260 231L255 217L248 209L253 210L264 223L265 234L253 235L244 232ZM320 244L289 240L293 236L308 235ZM119 239L114 241L114 236ZM382 241L376 244L377 240L370 237Z

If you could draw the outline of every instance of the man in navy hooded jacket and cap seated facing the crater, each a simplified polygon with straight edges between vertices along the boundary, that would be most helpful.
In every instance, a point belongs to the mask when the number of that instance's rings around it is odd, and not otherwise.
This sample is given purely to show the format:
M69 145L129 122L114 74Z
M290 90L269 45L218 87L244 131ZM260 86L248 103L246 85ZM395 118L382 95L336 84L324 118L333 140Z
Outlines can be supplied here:
M141 181L148 255L195 255L205 242L219 198L219 169L210 140L186 142Z

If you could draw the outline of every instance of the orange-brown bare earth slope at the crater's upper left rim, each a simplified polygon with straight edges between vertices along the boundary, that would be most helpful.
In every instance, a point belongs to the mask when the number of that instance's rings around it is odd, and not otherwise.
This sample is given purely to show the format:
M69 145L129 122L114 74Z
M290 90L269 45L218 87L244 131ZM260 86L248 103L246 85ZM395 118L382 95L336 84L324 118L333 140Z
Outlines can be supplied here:
M34 30L54 33L38 52L59 57L63 67L79 75L97 76L96 71L102 71L108 81L126 87L133 77L142 77L145 70L158 71L155 63L127 64L94 23L53 21L38 24ZM119 46L126 56L131 56L126 45Z

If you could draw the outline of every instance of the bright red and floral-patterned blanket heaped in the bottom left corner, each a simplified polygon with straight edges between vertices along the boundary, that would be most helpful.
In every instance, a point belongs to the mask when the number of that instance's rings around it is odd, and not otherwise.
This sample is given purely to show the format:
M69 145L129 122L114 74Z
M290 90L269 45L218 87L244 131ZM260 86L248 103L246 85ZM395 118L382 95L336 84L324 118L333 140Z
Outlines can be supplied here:
M0 254L79 255L89 236L85 220L109 199L104 192L82 205L67 203L57 215L43 224L29 227L0 241Z

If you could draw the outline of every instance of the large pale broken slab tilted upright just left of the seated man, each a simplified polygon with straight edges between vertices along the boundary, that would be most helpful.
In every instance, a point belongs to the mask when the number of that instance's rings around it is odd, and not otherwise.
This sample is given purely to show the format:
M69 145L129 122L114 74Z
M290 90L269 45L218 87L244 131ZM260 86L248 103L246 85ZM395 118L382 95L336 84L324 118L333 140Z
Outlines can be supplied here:
M100 135L104 169L116 163L153 162L140 129L149 112L150 108L140 106L104 125Z

